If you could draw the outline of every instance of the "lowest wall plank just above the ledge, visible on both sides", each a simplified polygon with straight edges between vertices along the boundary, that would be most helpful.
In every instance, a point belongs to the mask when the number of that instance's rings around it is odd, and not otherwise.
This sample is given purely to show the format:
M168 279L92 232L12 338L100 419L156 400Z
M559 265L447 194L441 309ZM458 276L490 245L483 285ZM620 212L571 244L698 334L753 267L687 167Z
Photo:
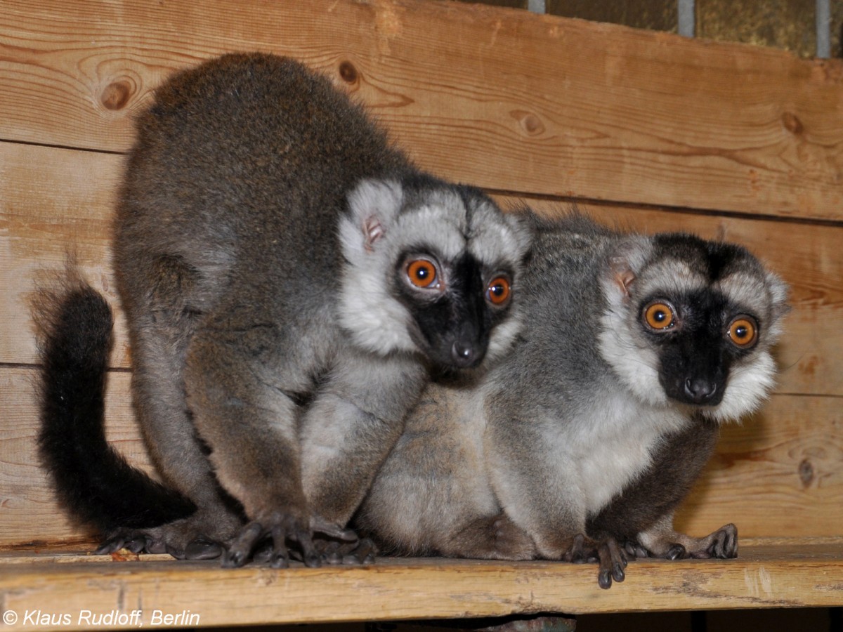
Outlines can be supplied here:
M35 370L0 367L0 544L75 540L35 454ZM129 374L110 374L106 418L121 452L148 469L129 405ZM743 536L835 536L843 522L840 399L775 395L743 426L725 426L677 524L702 536L727 522ZM35 527L37 525L37 527Z

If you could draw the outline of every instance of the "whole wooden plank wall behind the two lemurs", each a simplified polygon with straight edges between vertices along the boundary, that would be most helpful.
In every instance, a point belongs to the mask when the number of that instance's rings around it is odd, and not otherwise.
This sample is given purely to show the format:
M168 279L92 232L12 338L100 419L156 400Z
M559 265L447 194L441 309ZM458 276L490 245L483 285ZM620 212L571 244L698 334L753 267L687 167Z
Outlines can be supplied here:
M33 283L70 246L116 301L110 216L132 115L169 72L248 50L327 72L421 166L505 203L575 201L760 254L792 284L779 388L724 428L679 526L841 534L840 62L432 0L3 0L0 544L80 535L35 458ZM122 326L114 366L110 434L145 463Z

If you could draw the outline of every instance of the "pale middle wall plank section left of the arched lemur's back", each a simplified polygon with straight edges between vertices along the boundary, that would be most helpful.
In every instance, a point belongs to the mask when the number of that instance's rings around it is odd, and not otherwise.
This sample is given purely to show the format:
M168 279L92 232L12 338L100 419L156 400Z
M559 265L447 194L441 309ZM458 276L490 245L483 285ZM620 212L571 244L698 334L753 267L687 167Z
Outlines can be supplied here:
M0 142L0 362L33 362L30 299L74 254L91 284L116 303L111 217L122 158ZM116 311L114 362L126 366Z

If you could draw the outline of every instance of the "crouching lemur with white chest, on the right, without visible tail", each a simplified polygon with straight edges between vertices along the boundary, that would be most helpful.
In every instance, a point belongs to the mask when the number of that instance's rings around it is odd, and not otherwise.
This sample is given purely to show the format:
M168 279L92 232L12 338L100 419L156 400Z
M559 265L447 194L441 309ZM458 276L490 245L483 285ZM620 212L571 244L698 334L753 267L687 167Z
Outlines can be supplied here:
M673 529L718 424L758 408L787 286L737 245L535 217L524 329L478 382L431 384L353 522L385 552L733 557ZM586 537L587 536L587 537Z

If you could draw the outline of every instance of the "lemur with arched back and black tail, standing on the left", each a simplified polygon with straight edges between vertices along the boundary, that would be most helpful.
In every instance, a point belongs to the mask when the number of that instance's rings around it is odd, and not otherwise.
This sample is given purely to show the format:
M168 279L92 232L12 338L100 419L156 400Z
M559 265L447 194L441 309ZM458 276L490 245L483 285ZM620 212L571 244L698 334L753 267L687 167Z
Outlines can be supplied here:
M60 497L101 550L238 566L268 539L272 565L290 550L318 565L314 534L354 537L430 372L508 350L529 241L298 62L228 55L175 74L137 119L114 246L137 418L172 490L105 443L110 313L70 281L35 313Z

